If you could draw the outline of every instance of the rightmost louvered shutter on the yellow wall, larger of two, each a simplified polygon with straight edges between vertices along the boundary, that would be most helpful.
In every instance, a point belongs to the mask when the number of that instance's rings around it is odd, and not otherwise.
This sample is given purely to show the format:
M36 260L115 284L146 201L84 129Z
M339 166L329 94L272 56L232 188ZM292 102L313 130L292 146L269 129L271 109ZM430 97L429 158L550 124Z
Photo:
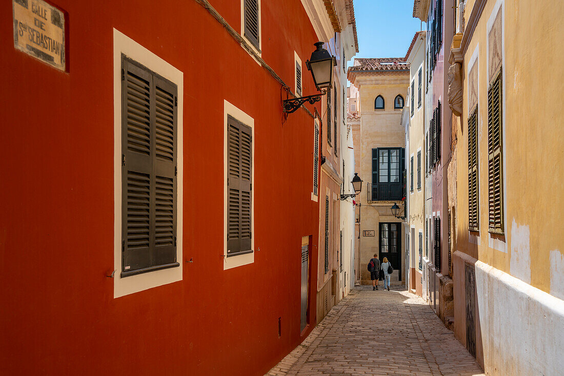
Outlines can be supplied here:
M501 69L488 89L488 229L503 233Z

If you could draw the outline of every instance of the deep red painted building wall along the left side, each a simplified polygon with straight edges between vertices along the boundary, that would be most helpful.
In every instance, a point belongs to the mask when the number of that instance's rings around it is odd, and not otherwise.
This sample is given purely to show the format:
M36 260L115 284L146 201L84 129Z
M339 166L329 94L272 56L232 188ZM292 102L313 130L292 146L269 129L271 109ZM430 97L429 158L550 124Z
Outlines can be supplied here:
M211 3L241 30L238 0ZM298 110L283 123L279 82L196 1L52 4L68 12L67 73L14 48L12 4L0 5L0 374L262 375L303 338L301 237L317 239L319 224L313 118ZM315 32L299 0L261 6L262 57L293 87L293 51L309 58ZM113 28L184 73L183 254L193 259L182 281L116 299L105 276L114 265ZM303 81L313 94L309 73ZM224 100L255 122L260 248L253 264L226 271Z

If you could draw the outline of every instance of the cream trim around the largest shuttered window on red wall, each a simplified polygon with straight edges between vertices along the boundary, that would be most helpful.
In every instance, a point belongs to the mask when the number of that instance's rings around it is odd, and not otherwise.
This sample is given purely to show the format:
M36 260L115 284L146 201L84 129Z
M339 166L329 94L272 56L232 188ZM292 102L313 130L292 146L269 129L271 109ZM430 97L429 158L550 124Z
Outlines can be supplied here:
M148 69L160 74L178 87L178 121L177 121L177 262L179 267L161 269L139 275L120 277L122 265L122 171L121 171L121 54L143 64ZM113 118L114 118L114 150L113 150L113 182L114 182L114 269L113 297L138 293L153 287L182 281L182 205L183 205L183 73L165 60L153 54L133 39L113 29Z

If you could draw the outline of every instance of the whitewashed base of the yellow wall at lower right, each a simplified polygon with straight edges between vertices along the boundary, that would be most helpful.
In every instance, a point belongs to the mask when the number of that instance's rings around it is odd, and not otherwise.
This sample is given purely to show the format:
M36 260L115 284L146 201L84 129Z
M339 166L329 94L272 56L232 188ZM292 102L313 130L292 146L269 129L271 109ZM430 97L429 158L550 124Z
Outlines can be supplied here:
M564 300L478 261L476 290L487 375L561 375Z

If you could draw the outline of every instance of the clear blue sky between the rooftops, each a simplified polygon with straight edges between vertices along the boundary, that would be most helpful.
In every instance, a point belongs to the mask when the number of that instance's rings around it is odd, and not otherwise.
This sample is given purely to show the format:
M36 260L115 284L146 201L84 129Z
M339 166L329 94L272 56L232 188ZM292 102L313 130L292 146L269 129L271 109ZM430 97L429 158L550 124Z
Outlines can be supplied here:
M413 18L413 0L354 0L359 53L355 57L403 57L425 23ZM352 65L352 60L349 66Z

